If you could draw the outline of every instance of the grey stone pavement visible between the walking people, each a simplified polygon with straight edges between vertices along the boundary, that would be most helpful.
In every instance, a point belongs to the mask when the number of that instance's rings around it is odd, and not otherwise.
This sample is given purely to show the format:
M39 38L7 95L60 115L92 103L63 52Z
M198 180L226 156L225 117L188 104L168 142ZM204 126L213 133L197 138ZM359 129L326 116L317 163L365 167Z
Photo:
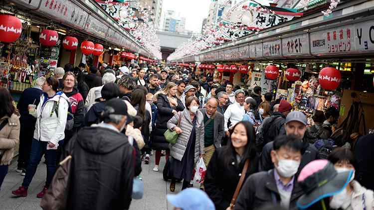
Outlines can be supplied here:
M166 200L167 194L177 194L182 189L182 183L176 184L175 192L169 190L170 181L163 180L162 169L165 165L165 156L161 157L160 171L152 169L155 166L155 155L151 156L149 165L142 163L143 171L141 177L144 183L144 197L141 200L133 200L130 210L173 210L173 206ZM46 177L46 166L40 163L34 178L28 188L27 197L14 197L11 191L18 189L23 181L23 176L16 172L16 159L9 165L9 170L2 183L0 190L0 210L40 210L41 199L36 198L44 186Z

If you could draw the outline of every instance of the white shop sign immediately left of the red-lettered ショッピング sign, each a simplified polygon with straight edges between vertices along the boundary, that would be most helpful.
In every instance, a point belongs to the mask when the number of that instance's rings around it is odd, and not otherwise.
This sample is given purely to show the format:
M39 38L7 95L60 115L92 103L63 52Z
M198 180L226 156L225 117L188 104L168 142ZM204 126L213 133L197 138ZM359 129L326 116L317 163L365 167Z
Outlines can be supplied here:
M301 34L297 36L282 38L282 55L284 57L310 55L308 34Z

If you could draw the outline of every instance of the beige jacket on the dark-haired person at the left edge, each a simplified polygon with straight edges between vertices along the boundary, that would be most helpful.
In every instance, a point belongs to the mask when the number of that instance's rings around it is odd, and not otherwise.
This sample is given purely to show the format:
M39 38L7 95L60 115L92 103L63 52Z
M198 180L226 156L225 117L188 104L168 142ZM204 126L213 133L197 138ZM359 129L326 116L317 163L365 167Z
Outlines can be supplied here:
M10 164L14 148L19 143L19 116L16 114L12 114L10 117L5 115L0 119L0 124L5 118L8 118L8 123L0 130L1 166Z

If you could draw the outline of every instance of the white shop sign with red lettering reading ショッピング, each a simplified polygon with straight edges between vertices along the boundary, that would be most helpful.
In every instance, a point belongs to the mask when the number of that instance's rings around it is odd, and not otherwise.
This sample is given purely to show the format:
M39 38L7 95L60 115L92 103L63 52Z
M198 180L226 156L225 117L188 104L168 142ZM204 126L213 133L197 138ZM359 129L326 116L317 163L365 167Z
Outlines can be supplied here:
M310 33L312 55L351 54L355 51L353 25L339 26Z

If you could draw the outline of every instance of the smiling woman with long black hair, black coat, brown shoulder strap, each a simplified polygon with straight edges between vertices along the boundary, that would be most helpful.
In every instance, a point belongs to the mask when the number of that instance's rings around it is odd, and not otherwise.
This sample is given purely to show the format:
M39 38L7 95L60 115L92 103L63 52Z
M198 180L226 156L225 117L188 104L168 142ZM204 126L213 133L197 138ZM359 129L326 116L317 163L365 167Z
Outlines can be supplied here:
M226 210L230 206L236 186L249 160L245 180L258 171L256 135L249 121L240 121L234 125L231 141L217 148L206 171L205 192L213 201L217 210Z

